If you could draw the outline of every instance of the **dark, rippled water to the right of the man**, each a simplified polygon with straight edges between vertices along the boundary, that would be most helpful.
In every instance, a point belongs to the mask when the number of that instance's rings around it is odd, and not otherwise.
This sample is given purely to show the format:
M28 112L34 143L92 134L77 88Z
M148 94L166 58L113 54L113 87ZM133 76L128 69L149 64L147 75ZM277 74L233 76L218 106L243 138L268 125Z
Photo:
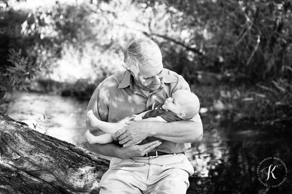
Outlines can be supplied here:
M194 166L195 174L190 177L190 188L187 193L234 193L290 194L292 175L292 131L279 127L259 126L250 123L212 122L204 127L204 137L194 143L187 151L187 156ZM208 122L203 119L203 123ZM260 181L266 180L266 171L262 166L278 165L279 158L287 166L287 174L276 175L283 180L277 185L277 179L269 180L269 186ZM266 158L272 158L261 165ZM259 174L257 168L260 166ZM283 167L283 166L282 166ZM266 169L267 170L267 169ZM259 176L258 176L259 175Z

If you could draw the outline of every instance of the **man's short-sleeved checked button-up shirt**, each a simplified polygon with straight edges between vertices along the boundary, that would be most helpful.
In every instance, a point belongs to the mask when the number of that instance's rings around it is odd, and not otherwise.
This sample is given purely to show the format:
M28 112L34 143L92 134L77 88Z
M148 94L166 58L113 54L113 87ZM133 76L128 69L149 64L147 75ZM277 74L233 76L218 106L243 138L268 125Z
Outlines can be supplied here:
M168 69L163 70L164 77L160 88L154 93L150 93L149 97L133 84L134 78L127 70L107 77L96 87L86 112L92 110L101 121L125 123L125 121L129 121L132 114L151 110L153 103L164 103L165 99L171 97L176 90L190 91L188 83L182 76ZM190 120L202 124L199 114ZM86 130L95 136L104 134L100 129L91 127L89 121L86 121ZM180 153L190 147L190 143L182 144L164 140L152 151Z

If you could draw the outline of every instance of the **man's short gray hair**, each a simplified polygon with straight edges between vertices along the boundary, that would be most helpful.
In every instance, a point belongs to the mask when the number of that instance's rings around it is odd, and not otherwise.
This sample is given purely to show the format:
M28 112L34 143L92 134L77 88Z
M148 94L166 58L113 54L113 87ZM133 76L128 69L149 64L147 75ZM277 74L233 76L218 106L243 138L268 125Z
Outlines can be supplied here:
M135 75L139 73L139 65L156 66L162 60L158 45L151 39L141 38L130 42L124 50L124 62L128 70Z

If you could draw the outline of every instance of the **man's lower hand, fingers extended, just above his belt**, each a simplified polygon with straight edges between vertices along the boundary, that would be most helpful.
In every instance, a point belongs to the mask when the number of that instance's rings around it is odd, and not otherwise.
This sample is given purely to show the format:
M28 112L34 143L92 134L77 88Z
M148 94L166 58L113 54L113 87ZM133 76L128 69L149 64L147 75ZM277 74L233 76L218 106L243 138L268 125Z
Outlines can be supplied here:
M144 156L147 152L150 152L162 142L155 140L143 145L134 145L128 147L121 147L120 148L120 159L127 159L127 158L134 158L134 157L141 157Z

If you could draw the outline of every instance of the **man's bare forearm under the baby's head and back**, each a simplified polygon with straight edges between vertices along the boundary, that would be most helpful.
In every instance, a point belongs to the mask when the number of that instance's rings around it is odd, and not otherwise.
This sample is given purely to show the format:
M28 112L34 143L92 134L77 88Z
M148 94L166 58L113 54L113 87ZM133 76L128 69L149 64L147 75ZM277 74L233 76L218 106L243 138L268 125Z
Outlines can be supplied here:
M176 143L192 143L203 138L203 126L194 121L149 122L151 136Z

